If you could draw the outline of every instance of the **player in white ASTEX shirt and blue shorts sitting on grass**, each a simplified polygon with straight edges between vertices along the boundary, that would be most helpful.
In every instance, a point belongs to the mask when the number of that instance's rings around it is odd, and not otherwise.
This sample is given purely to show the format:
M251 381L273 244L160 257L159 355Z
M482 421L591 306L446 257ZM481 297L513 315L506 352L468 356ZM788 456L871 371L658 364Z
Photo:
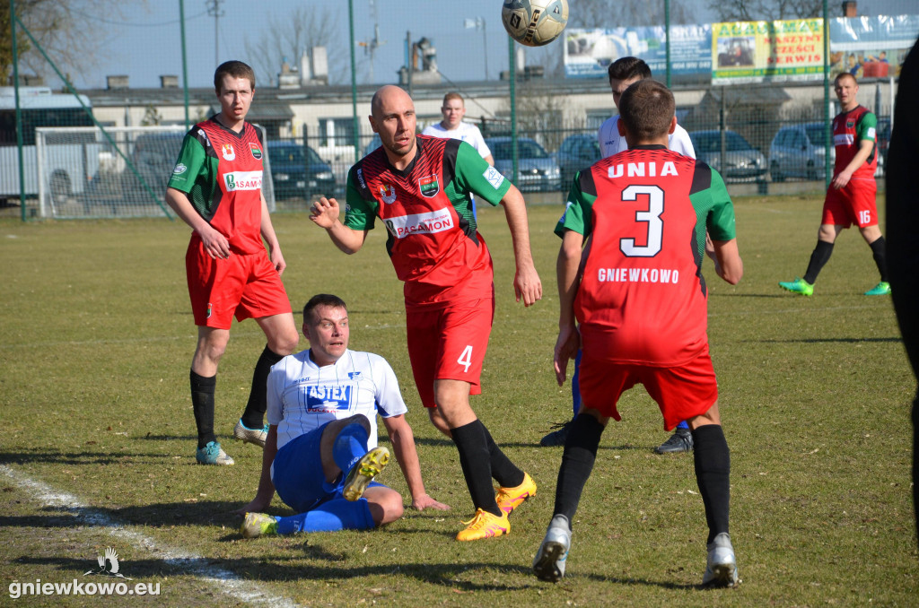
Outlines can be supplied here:
M284 357L268 375L262 476L255 499L239 511L245 513L243 535L366 530L402 517L399 492L373 480L390 459L389 450L377 445L377 413L412 506L449 509L425 493L392 368L379 355L348 350L345 302L313 296L303 308L303 334L310 348ZM262 513L276 489L299 514Z

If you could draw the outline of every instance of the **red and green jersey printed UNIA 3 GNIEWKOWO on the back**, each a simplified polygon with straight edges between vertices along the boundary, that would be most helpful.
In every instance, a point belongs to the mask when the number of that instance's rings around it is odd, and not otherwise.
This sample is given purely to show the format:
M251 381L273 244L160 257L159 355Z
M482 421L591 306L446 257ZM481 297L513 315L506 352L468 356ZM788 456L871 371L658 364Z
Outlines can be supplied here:
M705 232L734 238L717 171L664 146L619 152L581 172L555 228L590 238L574 301L584 350L611 361L678 366L708 344Z

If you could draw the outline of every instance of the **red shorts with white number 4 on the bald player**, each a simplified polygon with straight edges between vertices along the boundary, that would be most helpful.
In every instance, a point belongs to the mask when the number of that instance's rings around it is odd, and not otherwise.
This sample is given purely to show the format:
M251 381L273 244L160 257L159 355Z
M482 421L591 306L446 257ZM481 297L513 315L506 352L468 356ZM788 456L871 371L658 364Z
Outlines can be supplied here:
M462 380L470 394L482 392L482 361L494 321L491 298L452 304L445 309L406 310L408 356L414 384L425 408L437 407L435 380Z

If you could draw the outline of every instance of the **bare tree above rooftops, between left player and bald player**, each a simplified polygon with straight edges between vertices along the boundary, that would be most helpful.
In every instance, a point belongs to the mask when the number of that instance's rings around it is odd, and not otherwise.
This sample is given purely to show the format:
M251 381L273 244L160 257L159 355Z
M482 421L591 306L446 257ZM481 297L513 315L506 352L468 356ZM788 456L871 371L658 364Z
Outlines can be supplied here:
M346 53L338 50L334 37L337 28L336 13L328 6L306 4L291 10L287 15L272 14L268 27L255 42L245 39L245 51L260 79L270 84L278 83L278 72L285 58L291 66L299 66L303 52L312 47L324 46L328 51L329 80L336 82L346 73Z

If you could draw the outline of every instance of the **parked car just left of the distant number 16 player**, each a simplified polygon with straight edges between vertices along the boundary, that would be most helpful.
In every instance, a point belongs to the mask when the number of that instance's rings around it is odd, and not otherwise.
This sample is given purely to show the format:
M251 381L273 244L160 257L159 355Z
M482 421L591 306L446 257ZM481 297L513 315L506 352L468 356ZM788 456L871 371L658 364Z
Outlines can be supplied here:
M789 177L823 179L826 165L826 131L823 122L808 122L778 129L769 145L769 171L772 181ZM830 163L835 153L830 146Z

